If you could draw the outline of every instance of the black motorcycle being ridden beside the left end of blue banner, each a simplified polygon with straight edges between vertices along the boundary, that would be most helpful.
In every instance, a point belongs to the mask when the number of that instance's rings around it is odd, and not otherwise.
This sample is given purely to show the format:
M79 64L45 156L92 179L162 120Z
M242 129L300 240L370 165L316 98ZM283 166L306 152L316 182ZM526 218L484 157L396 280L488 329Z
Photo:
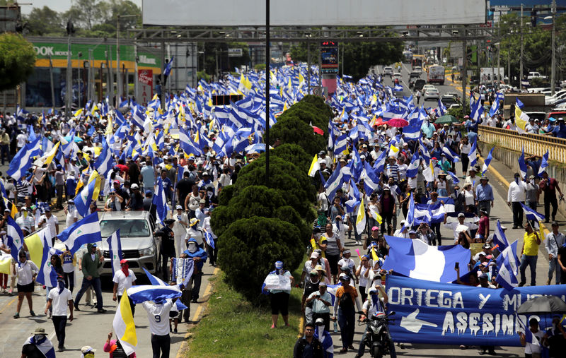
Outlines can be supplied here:
M374 358L381 358L387 354L395 357L395 347L391 342L388 324L394 320L389 319L395 312L384 314L376 312L371 318L365 318L363 323L367 323L366 347L369 348L369 354ZM392 352L393 351L393 352Z

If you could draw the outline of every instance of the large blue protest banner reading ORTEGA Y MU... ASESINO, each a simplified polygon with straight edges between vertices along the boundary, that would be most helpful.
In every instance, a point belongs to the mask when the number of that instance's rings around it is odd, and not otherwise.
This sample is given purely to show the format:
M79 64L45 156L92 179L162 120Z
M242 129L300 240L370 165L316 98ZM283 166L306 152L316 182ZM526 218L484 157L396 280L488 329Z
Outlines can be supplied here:
M519 287L512 291L431 282L388 275L388 311L395 311L389 326L394 342L437 345L519 346L518 330L530 318L551 326L550 314L515 315L529 299L566 296L566 285Z

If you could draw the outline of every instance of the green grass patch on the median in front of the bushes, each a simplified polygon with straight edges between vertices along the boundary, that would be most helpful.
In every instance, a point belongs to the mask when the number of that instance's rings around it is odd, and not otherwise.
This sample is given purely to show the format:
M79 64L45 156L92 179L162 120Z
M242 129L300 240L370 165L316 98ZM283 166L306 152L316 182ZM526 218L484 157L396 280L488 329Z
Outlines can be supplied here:
M306 257L304 258L306 261ZM304 261L303 261L304 262ZM295 282L301 278L295 270ZM289 298L289 325L279 315L277 328L271 329L271 309L254 307L224 282L219 271L211 279L213 290L207 311L190 330L185 357L289 357L299 334L303 290L293 288ZM260 287L258 287L260 294Z

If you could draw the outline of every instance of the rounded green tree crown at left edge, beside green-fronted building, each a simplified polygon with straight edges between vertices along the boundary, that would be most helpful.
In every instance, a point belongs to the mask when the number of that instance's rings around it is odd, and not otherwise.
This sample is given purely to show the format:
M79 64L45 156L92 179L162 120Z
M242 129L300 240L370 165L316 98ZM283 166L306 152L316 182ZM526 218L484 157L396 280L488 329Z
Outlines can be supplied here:
M0 91L15 88L26 80L35 66L35 52L31 42L21 35L0 35Z

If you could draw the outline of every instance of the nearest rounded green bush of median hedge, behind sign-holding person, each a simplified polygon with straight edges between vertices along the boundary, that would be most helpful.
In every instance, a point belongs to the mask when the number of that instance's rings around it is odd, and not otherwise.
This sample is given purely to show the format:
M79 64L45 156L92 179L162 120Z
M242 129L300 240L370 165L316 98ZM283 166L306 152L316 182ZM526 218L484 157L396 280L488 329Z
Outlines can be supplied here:
M283 261L293 270L301 263L305 247L294 225L267 217L233 222L219 237L218 246L226 281L255 304L262 300L260 287L273 263Z

